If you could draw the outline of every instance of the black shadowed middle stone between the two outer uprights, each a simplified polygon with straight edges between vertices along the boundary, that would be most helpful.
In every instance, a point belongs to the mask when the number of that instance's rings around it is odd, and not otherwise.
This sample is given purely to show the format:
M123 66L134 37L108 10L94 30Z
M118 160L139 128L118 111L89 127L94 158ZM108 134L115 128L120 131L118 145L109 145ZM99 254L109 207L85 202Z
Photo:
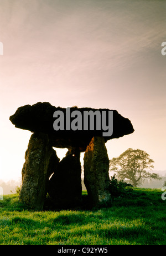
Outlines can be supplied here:
M58 208L80 204L82 195L80 152L70 148L49 180L49 195Z

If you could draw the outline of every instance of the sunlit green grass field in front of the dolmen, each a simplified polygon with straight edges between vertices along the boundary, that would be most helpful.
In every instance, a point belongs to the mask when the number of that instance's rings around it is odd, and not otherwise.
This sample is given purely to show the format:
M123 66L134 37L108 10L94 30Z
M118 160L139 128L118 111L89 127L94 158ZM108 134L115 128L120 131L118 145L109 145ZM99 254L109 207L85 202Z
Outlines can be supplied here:
M18 195L6 195L0 201L0 244L165 245L161 195L161 190L135 188L109 208L78 211L32 211Z

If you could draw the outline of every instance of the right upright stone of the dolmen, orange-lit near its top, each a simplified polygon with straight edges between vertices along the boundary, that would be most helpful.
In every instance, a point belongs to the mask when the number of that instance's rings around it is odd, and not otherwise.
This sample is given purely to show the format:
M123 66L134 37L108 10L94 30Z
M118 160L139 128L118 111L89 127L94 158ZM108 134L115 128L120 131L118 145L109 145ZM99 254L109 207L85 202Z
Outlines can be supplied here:
M109 159L103 137L93 137L84 154L84 183L92 206L110 201Z

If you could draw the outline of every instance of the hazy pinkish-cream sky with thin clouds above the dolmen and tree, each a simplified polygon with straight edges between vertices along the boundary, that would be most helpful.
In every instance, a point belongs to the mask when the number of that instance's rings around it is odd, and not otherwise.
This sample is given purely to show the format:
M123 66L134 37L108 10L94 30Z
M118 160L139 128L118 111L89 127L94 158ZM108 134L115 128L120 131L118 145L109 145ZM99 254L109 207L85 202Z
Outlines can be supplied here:
M9 116L38 101L117 110L135 131L107 142L109 158L138 148L166 170L165 12L162 0L0 0L0 179L21 176L31 135Z

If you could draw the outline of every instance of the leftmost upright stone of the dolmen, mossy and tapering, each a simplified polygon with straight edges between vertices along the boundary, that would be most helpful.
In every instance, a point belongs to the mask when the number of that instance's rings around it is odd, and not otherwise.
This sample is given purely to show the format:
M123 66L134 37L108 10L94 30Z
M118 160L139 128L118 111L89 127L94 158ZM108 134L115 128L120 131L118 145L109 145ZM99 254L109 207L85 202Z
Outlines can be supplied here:
M54 173L58 163L59 158L50 144L49 136L35 132L25 152L20 201L34 210L43 210L49 176Z

